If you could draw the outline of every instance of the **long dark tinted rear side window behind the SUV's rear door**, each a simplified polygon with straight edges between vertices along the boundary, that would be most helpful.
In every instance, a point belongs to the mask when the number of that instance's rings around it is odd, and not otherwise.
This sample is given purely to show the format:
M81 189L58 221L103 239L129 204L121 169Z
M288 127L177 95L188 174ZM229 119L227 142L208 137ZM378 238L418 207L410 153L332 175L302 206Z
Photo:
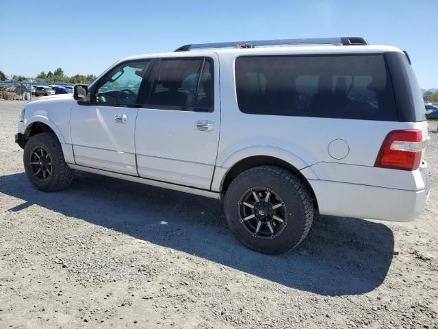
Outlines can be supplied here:
M248 56L235 62L242 112L397 120L383 55Z

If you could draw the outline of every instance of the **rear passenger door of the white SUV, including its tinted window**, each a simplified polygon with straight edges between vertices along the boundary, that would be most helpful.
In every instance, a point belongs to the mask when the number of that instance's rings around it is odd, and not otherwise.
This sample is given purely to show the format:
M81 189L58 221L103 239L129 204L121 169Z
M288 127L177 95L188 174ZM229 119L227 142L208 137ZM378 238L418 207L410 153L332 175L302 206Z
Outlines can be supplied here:
M157 60L136 123L141 177L210 188L220 131L218 69L215 53Z

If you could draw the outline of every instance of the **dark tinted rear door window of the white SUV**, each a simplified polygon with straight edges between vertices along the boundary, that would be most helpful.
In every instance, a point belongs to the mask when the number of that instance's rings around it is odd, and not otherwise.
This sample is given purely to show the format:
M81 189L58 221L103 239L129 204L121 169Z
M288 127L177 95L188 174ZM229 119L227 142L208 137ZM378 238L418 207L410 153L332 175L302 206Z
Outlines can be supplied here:
M152 105L213 108L213 62L207 58L162 59L151 90Z

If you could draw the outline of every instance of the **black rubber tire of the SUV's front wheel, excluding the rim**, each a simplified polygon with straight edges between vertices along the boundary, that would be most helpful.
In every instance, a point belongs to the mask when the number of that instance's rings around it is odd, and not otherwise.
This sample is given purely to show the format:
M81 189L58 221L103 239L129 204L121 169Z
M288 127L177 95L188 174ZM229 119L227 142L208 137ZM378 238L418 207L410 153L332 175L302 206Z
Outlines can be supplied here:
M51 175L45 181L36 178L31 169L31 151L35 147L44 147L44 149L47 150L47 153L51 158ZM65 162L60 141L58 141L56 135L51 132L36 134L29 138L29 141L27 141L25 145L23 162L27 177L29 178L31 183L40 191L60 191L64 188L67 188L73 181L73 170L68 168Z

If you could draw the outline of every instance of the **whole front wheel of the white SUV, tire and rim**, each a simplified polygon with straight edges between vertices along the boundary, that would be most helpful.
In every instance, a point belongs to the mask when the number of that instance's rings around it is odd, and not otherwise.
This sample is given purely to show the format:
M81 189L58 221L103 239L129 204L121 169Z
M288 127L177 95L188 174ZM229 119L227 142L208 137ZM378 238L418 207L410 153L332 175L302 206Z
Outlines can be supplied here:
M44 192L60 191L73 181L62 148L53 133L36 134L25 145L23 162L31 183Z

